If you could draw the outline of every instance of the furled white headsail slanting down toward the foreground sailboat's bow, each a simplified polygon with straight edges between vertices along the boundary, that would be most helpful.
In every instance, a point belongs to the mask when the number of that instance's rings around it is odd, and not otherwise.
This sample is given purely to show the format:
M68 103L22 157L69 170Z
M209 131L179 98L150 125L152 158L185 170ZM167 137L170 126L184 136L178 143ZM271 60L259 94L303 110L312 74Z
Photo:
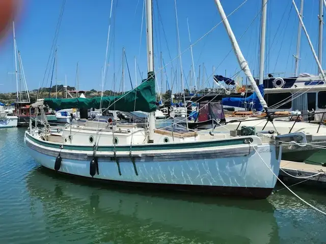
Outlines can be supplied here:
M233 48L233 50L235 52L236 58L238 59L238 63L240 65L240 67L241 67L241 70L243 70L244 74L246 74L246 76L248 77L251 85L253 86L253 88L254 88L254 90L255 90L255 92L257 94L257 97L258 97L261 105L265 109L265 112L268 112L267 104L266 104L264 98L261 96L260 90L259 90L259 88L258 88L258 86L257 86L257 84L256 84L256 82L254 80L254 77L253 77L253 75L252 75L252 73L251 73L251 71L249 69L249 65L248 65L246 59L244 59L244 57L243 57L243 54L242 54L242 52L240 50L240 47L238 45L238 42L237 42L234 34L232 32L231 26L229 24L229 21L228 21L226 15L225 15L225 12L223 10L221 2L220 2L220 0L215 0L215 3L216 3L216 6L217 6L217 8L218 8L218 10L220 12L220 15L221 15L223 24L224 24L224 26L226 28L226 31L227 31L227 33L229 35L229 38L230 38L230 41L231 41L231 44L232 44L232 48Z

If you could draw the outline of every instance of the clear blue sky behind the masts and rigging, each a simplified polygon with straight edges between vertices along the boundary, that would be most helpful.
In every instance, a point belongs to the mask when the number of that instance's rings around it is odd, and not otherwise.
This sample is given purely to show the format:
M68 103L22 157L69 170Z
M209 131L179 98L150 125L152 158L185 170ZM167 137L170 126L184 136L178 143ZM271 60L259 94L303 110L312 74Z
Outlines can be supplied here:
M228 15L244 0L222 0L222 5ZM213 0L177 0L181 51L189 47L186 18L188 17L192 43L195 43L214 25L221 21ZM269 0L267 10L266 38L266 72L286 72L291 75L294 70L293 54L296 49L298 19L290 0ZM296 0L297 5L300 4ZM318 39L318 2L305 1L304 22L312 43L317 52ZM122 48L125 48L129 65L131 81L135 84L134 57L137 57L139 69L146 76L146 29L145 17L141 38L141 23L143 0L114 0L114 9L110 36L110 59L104 89L119 90L121 87ZM62 1L29 0L23 6L20 20L16 23L16 41L21 53L23 68L29 89L36 89L42 84L47 60L55 35ZM79 88L90 90L101 89L101 69L104 65L108 20L111 0L69 0L66 1L62 23L58 36L58 81L75 85L76 63L79 63ZM160 52L167 65L164 72L164 87L166 79L172 85L171 67L180 70L180 60L171 63L171 58L178 55L175 5L173 0L153 0L154 15L154 54L155 69L160 66ZM236 38L243 33L239 41L240 48L249 62L254 75L258 72L258 48L261 0L248 0L239 10L229 17ZM258 17L256 17L258 14ZM160 16L160 18L159 18ZM256 17L256 19L255 19ZM283 17L283 19L282 19ZM282 20L282 21L281 21ZM248 30L246 31L246 29ZM165 34L165 35L164 35ZM113 39L115 44L113 45ZM141 40L141 44L140 44ZM325 46L326 48L326 46ZM325 50L324 48L324 50ZM211 86L212 67L218 67L215 74L234 75L239 71L235 55L231 50L230 41L223 24L218 25L213 32L204 37L194 47L194 62L196 76L198 66L205 66L205 87ZM229 54L228 54L229 53ZM323 53L325 53L323 51ZM228 55L227 55L228 54ZM115 59L114 59L115 56ZM307 38L302 32L300 72L316 73L317 66L308 46ZM224 60L224 61L223 61ZM222 62L223 61L223 62ZM221 64L222 63L222 64ZM323 62L324 63L324 62ZM192 65L190 51L182 55L182 67L185 78ZM201 67L202 69L202 67ZM12 36L8 36L0 47L0 93L15 92L14 54ZM116 81L113 73L116 73ZM207 76L206 76L207 73ZM178 77L180 76L178 71ZM137 71L138 83L140 73ZM240 73L242 77L243 74ZM47 77L47 76L46 76ZM157 74L160 86L160 74ZM201 78L202 82L202 70ZM53 81L54 82L54 81ZM209 83L208 83L209 82ZM186 81L184 80L184 83ZM50 80L45 78L43 86L48 87ZM52 83L53 84L53 83ZM189 86L189 80L185 88ZM130 79L125 63L125 89L130 89ZM121 88L120 88L121 89ZM174 83L174 92L181 89L180 78Z

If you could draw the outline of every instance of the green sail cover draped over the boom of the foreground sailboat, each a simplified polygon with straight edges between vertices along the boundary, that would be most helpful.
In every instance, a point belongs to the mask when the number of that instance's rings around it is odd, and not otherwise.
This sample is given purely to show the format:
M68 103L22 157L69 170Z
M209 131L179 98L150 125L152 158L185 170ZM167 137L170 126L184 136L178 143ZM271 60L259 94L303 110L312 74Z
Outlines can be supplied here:
M152 112L156 110L155 77L151 72L148 79L139 86L116 97L101 98L63 98L63 99L44 99L44 104L55 110L69 108L108 108L108 110L120 110L124 112L143 111Z

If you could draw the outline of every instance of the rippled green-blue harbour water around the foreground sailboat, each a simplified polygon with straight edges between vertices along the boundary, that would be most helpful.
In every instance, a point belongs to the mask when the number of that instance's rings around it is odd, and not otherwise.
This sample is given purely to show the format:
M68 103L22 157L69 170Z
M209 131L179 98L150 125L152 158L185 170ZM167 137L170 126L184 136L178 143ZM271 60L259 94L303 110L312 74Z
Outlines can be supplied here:
M326 217L286 190L267 200L153 193L40 167L24 128L0 130L0 243L326 243ZM293 188L326 210L322 191Z

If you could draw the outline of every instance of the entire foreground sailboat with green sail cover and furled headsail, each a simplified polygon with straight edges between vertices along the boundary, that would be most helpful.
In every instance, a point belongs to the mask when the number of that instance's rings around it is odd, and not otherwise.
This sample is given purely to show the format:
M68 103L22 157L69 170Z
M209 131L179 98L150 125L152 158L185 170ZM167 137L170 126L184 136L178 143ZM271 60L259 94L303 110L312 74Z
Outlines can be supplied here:
M244 72L252 78L219 0L215 0ZM24 142L42 166L57 172L152 189L266 198L279 173L282 141L304 139L301 133L276 137L155 130L152 1L146 0L148 78L117 97L44 99L50 108L102 108L149 112L148 128L71 131L68 136L30 127ZM258 90L255 81L250 79ZM258 95L259 96L259 95ZM267 111L266 102L260 101ZM43 103L33 104L40 108ZM44 115L43 115L44 117ZM84 137L84 138L81 138Z

